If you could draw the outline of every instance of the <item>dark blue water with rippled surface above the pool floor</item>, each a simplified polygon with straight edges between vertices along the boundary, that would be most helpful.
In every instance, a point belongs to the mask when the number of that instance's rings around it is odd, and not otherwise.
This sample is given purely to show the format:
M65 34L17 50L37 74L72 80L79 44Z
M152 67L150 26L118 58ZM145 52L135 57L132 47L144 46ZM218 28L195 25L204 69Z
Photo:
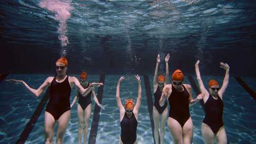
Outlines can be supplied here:
M209 75L223 74L221 61L233 75L256 73L255 1L53 0L64 13L42 1L0 1L0 72L52 73L66 55L73 73L146 73L170 53L171 70L193 73L199 59Z

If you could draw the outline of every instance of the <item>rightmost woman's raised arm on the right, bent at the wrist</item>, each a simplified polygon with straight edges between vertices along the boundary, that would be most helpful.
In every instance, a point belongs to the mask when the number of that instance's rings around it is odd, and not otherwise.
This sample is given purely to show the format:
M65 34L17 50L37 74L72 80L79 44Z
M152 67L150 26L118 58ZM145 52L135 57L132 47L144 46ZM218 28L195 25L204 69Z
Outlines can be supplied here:
M222 99L222 96L228 87L229 84L229 65L227 63L220 63L220 67L226 70L225 77L222 83L221 88L218 91L219 97Z

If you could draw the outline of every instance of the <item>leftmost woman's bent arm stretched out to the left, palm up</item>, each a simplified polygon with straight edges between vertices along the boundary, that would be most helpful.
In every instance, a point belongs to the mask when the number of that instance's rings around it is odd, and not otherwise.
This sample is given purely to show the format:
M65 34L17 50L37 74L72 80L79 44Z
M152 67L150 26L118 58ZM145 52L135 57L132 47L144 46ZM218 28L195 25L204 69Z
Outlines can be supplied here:
M50 85L52 80L53 80L53 77L48 77L46 81L37 90L31 88L25 81L22 81L22 80L9 79L6 81L15 82L16 84L22 84L31 95L39 97L43 93L43 91L46 89L46 87Z

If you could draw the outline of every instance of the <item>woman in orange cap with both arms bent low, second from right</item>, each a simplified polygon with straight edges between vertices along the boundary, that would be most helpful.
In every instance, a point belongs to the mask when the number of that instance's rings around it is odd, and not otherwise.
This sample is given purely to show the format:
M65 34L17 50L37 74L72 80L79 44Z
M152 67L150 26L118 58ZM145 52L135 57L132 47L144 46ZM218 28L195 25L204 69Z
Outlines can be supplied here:
M159 100L161 107L165 105L166 99L169 101L170 109L167 126L174 144L192 144L193 123L189 106L204 98L204 94L201 93L196 99L192 99L192 88L189 84L183 84L183 79L183 72L175 70L172 75L172 83L165 85Z

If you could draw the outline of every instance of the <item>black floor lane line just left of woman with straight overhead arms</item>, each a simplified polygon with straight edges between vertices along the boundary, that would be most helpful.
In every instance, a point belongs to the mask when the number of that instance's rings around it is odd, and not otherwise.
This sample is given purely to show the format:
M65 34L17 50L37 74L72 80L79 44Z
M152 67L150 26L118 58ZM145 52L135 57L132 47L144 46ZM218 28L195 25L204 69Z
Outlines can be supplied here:
M151 89L150 89L150 82L149 82L148 76L147 75L143 75L143 76L144 76L144 83L145 83L145 88L146 88L146 99L147 99L147 106L148 106L147 108L148 108L150 122L151 122L153 140L154 140L154 144L155 144L155 136L154 136L155 125L154 125L154 119L153 119L152 93L151 93ZM160 144L160 135L159 135L158 141L159 141L159 144Z

